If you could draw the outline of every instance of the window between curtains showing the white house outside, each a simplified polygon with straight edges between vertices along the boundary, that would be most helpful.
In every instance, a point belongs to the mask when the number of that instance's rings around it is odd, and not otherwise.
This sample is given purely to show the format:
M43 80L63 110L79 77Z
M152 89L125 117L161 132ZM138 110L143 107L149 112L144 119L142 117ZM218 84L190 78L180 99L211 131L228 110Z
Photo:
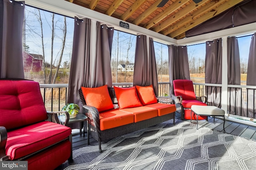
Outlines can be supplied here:
M114 31L111 71L113 83L133 82L136 35Z

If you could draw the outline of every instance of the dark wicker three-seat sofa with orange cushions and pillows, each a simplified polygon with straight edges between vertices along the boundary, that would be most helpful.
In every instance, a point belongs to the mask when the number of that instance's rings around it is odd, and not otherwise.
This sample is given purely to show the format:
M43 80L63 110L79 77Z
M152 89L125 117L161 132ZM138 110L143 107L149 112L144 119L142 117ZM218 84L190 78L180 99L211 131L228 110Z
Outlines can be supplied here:
M88 117L84 129L98 141L132 133L146 127L173 119L176 106L171 98L156 97L153 86L129 88L98 88L79 90L83 113ZM87 127L88 125L88 127Z

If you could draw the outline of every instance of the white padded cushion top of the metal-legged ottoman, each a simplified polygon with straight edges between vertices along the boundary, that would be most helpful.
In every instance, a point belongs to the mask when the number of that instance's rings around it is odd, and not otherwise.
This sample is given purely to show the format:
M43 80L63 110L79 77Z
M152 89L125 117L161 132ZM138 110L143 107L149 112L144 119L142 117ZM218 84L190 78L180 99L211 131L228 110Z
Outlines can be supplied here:
M192 105L191 110L197 115L214 115L214 116L224 116L225 111L216 106L197 106Z

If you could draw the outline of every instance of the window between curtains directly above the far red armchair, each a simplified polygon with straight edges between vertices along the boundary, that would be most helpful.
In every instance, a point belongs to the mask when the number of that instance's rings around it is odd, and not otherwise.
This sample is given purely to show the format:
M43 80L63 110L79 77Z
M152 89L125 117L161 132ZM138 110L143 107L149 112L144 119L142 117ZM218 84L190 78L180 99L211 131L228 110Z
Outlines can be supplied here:
M187 47L190 80L194 83L205 83L205 43L189 45Z

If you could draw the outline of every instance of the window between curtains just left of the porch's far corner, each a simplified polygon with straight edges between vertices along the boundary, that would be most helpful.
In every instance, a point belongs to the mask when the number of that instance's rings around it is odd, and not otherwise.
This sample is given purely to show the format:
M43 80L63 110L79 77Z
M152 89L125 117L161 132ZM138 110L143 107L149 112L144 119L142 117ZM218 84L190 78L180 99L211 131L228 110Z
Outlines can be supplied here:
M158 82L170 82L168 46L154 41Z

